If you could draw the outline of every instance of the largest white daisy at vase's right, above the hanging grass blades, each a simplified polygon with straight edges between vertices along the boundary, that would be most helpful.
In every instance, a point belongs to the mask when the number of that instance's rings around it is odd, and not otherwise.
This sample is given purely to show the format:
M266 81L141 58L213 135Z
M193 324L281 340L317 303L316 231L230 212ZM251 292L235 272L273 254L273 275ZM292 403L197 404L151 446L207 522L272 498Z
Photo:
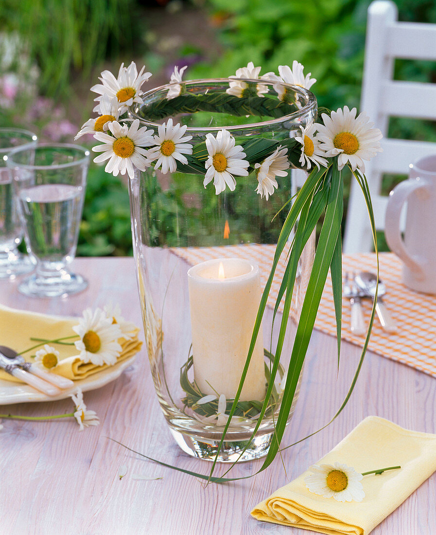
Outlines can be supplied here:
M318 139L320 148L326 151L326 156L338 155L338 169L345 164L351 169L365 172L363 160L370 160L381 152L379 140L383 137L378 128L372 128L366 113L356 117L357 110L351 111L348 106L343 110L332 111L331 117L323 113L324 125L318 125Z

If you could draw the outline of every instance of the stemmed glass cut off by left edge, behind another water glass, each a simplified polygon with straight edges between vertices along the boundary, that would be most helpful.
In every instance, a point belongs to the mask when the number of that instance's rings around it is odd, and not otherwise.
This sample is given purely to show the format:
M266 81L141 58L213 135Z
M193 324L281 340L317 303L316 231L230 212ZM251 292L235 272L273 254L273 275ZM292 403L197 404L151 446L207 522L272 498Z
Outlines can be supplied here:
M0 279L28 273L34 264L18 251L23 232L18 214L11 170L7 155L17 147L36 146L36 134L21 128L0 128Z

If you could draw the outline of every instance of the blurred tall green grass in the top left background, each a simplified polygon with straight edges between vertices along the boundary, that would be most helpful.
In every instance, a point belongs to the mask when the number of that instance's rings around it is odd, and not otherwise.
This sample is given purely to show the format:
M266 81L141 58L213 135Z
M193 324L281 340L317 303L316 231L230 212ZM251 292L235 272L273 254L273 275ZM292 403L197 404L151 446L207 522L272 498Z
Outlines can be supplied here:
M97 62L132 48L139 31L135 0L2 0L0 25L19 36L39 68L39 93L66 96L74 74L86 78Z

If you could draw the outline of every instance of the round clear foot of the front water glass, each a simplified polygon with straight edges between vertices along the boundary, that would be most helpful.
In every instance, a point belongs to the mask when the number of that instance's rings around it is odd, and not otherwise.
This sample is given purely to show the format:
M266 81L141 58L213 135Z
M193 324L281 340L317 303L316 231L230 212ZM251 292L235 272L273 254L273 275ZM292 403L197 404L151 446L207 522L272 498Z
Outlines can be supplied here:
M28 297L66 297L83 292L87 287L88 281L74 273L57 277L39 277L34 274L21 282L18 291Z

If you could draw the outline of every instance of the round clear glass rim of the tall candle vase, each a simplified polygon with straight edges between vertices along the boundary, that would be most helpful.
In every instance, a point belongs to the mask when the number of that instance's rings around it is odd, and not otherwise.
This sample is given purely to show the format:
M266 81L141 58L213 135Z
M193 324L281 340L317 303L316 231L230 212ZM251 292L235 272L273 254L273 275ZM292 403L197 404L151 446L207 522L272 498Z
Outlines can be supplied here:
M240 124L240 125L231 125L231 126L210 126L210 127L187 127L186 134L206 134L208 132L219 132L222 129L228 130L228 131L241 131L243 129L251 130L253 128L259 128L262 126L272 126L272 125L280 125L283 123L286 123L288 121L294 122L299 117L304 117L308 113L317 113L318 105L316 96L309 91L309 89L306 89L302 86L293 86L290 83L281 82L281 81L275 81L275 80L261 80L261 79L253 79L253 78L200 78L198 80L182 80L180 82L171 82L171 83L165 83L162 86L155 87L153 89L150 89L149 91L146 91L142 95L142 100L145 100L150 95L153 95L154 93L157 93L158 91L164 91L169 90L171 87L174 86L181 86L181 85L198 85L200 83L226 83L229 84L230 82L250 82L260 84L260 85L269 85L272 86L276 83L280 83L281 86L287 87L289 89L292 89L295 93L300 94L305 99L307 99L307 103L302 106L300 110L296 110L293 113L289 113L287 115L284 115L282 117L276 118L276 119L270 119L267 121L261 121L259 123L249 123L249 124ZM137 106L137 109L140 109L141 105ZM129 116L131 119L139 119L140 122L143 125L147 125L150 128L157 129L159 126L161 126L161 123L154 123L154 121L149 121L147 119L144 119L143 117L139 116L135 111L129 110Z

